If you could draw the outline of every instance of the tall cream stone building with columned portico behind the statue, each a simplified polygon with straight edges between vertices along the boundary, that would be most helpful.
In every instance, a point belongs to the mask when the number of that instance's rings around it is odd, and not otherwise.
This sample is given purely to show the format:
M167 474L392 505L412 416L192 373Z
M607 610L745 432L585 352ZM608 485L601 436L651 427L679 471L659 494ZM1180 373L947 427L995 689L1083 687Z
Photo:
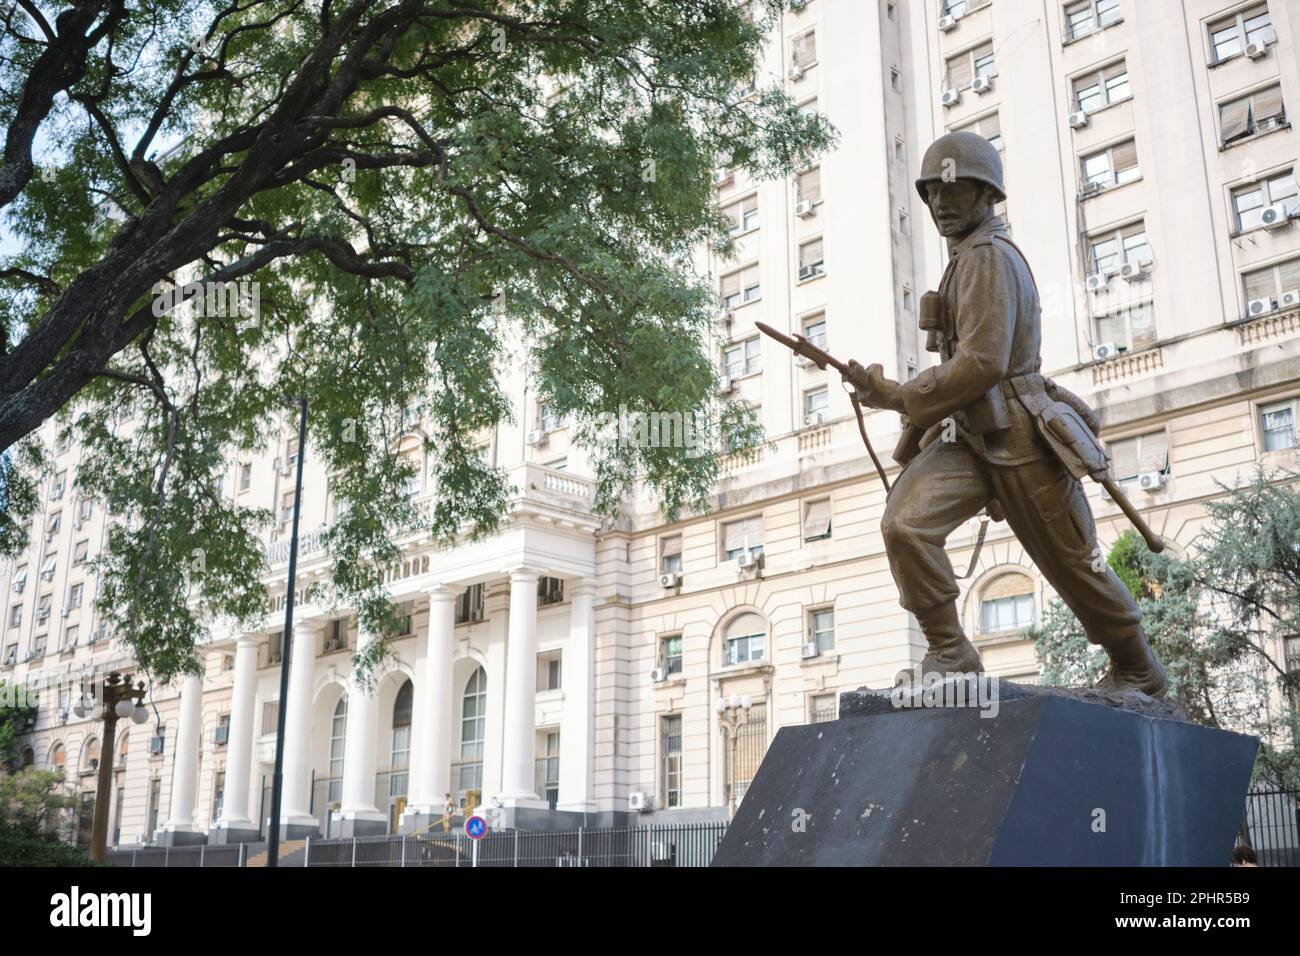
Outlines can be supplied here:
M737 254L697 263L718 284L723 389L759 408L775 447L727 459L708 514L667 523L638 494L602 529L582 450L512 373L520 424L485 454L511 470L519 498L488 541L438 551L417 532L402 538L389 584L410 636L376 693L351 680L355 622L299 610L292 831L417 826L447 793L499 804L502 825L725 817L780 726L833 718L838 692L888 685L920 659L849 398L835 372L754 323L896 378L932 363L916 310L946 250L913 182L946 130L1002 151L1004 212L1044 303L1043 369L1100 411L1115 479L1175 553L1217 483L1300 464L1300 147L1286 113L1300 100L1297 46L1300 16L1280 0L807 0L784 14L757 81L826 113L838 146L786 181L718 170ZM871 412L867 428L887 454L897 416ZM420 445L413 436L413 454ZM296 454L286 424L228 476L230 494L281 515L268 541L281 614ZM0 679L129 667L90 643L101 632L82 566L104 519L73 499L75 459L58 453L31 548L5 575ZM1127 523L1100 488L1088 497L1108 546ZM306 587L328 566L318 531L335 509L309 449L303 509ZM949 541L958 572L976 528ZM987 669L1036 679L1024 628L1050 592L1005 525L961 584ZM125 740L116 842L260 827L278 630L220 635L202 679L155 688L159 721ZM88 792L108 757L66 704L44 702L23 745Z

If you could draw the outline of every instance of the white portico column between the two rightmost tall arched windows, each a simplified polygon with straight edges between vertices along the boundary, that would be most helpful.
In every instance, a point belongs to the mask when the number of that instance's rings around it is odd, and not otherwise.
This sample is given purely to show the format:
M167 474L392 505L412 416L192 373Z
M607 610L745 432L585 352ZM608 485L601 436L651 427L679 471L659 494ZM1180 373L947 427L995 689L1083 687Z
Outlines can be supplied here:
M422 667L416 674L412 714L410 813L441 814L451 792L451 658L460 588L429 591L429 630ZM416 760L419 754L419 760Z

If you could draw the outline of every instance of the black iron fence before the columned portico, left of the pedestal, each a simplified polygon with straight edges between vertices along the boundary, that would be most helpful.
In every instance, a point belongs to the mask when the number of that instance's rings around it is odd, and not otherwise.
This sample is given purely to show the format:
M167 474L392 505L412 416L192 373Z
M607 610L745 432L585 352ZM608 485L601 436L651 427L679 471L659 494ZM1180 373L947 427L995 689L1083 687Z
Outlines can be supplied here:
M282 847L281 866L707 866L727 823L504 830L478 840L464 832L312 839ZM114 866L257 866L266 847L142 847L110 851Z

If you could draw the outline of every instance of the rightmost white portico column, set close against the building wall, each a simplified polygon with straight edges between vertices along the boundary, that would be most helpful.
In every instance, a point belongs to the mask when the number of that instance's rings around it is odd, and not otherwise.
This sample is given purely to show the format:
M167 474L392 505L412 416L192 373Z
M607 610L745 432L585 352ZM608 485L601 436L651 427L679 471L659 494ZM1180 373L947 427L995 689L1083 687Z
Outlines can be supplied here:
M569 639L564 645L560 687L560 797L556 809L595 812L595 585L569 585Z

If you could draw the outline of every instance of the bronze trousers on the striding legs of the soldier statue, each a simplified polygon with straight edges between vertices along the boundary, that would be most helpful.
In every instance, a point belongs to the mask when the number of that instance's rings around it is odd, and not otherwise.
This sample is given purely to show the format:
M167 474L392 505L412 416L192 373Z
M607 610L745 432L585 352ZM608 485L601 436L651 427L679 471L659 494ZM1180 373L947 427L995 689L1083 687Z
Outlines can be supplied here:
M962 441L928 445L889 493L880 531L904 607L922 614L957 598L944 542L991 498L1089 641L1134 635L1141 620L1138 604L1097 548L1080 483L1056 458L997 467Z

